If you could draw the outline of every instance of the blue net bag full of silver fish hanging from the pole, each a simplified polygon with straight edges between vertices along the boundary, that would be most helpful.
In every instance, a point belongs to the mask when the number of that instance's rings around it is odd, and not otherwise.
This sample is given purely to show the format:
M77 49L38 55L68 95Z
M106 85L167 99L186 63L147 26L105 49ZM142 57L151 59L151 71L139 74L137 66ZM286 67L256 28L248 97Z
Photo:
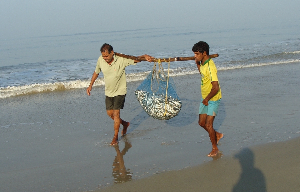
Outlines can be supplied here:
M162 66L160 67L159 71L154 68L148 74L135 91L135 96L149 116L168 120L178 115L182 103L177 96L173 79L169 77L167 80Z

